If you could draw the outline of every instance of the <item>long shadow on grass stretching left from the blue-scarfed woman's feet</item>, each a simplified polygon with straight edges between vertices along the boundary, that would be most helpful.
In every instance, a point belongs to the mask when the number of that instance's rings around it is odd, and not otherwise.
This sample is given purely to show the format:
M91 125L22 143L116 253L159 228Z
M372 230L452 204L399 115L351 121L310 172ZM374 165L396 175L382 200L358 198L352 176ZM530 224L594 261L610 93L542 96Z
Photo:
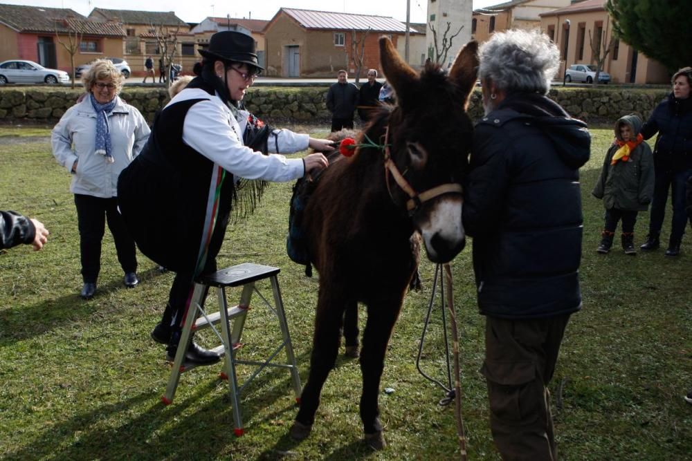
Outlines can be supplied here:
M158 274L156 268L140 272L139 279L146 282ZM93 314L96 301L119 290L128 290L122 279L113 279L106 284L97 285L93 299L80 298L78 290L59 298L46 299L21 309L8 308L0 311L0 346L11 346L17 341L39 336L45 332L59 329L64 323ZM138 287L131 290L137 290Z

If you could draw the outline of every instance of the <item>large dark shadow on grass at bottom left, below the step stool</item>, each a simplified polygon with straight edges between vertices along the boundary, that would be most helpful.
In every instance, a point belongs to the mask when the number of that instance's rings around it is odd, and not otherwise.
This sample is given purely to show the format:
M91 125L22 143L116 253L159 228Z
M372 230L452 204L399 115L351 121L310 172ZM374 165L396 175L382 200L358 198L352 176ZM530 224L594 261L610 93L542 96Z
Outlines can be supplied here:
M28 459L211 459L228 449L235 435L232 408L224 397L199 404L215 384L197 386L194 395L165 406L153 392L98 406L48 426L6 460ZM154 402L147 406L147 402ZM138 413L128 417L129 413ZM118 425L119 420L125 420ZM224 430L223 428L228 428ZM104 453L107 453L104 458Z

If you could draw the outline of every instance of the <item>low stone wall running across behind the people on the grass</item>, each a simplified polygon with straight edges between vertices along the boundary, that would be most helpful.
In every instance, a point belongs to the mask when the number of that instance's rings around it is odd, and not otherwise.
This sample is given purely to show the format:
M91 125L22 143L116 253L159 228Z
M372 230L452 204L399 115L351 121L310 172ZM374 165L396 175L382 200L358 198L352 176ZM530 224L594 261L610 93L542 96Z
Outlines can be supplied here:
M0 123L55 124L81 93L81 88L50 91L32 87L0 88ZM667 89L600 86L597 89L558 87L553 88L549 96L573 117L591 123L610 123L630 113L646 120L667 94ZM120 96L135 106L150 123L154 120L154 113L168 102L167 91L163 88L125 88ZM331 115L325 105L326 97L327 87L258 86L248 92L245 104L249 111L273 124L286 121L327 123ZM471 95L469 113L474 120L483 114L478 88Z

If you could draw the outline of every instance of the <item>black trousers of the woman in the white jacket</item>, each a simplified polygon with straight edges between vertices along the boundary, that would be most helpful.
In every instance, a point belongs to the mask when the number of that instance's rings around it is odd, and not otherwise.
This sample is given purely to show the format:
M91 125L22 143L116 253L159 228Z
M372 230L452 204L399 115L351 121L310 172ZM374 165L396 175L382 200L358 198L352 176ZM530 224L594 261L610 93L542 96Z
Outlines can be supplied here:
M118 199L99 198L75 194L77 218L80 229L80 256L84 283L96 283L101 270L101 241L105 223L116 243L118 262L123 272L136 272L137 256L134 240L127 232L122 216L118 212Z

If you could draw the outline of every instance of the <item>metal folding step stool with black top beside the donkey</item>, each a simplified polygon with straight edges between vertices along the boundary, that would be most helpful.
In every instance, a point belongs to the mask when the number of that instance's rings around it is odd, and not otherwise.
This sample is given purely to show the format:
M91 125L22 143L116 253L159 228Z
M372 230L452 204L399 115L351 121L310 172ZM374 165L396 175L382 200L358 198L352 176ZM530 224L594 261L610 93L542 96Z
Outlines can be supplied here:
M184 344L185 346L179 346L178 351L176 352L170 379L168 379L166 393L163 395L163 397L161 397L164 404L168 405L173 402L173 397L175 395L176 388L178 387L180 375L185 371L196 368L194 365L185 366L183 362L185 361L185 352L190 346L192 332L202 330L203 328L212 328L217 337L219 337L221 340L221 345L213 348L212 350L219 354L221 354L221 352L224 353L225 373L221 373L221 377L228 379L230 399L233 404L235 435L239 437L243 435L244 432L243 422L240 414L240 392L267 366L289 369L291 372L291 379L293 380L295 399L297 402L300 402L300 377L298 376L298 366L295 364L295 355L293 355L293 346L291 345L289 326L286 323L284 303L281 301L279 282L276 278L279 272L280 269L277 267L243 263L226 267L226 269L219 270L218 272L208 276L203 276L195 282L192 300L190 301L190 310L188 311L188 317L185 319L185 326L183 326L183 331L181 332L180 338L180 344ZM273 307L262 296L262 293L255 288L255 281L262 279L269 279L271 282L271 290L274 295ZM243 288L240 296L240 302L238 305L229 308L226 303L226 287L240 286ZM204 299L206 298L210 287L217 288L219 311L208 314L203 307ZM266 307L275 314L279 321L279 326L281 328L281 334L283 337L282 344L280 344L280 346L278 346L265 361L246 361L239 360L235 357L236 351L240 347L240 337L243 332L248 310L250 309L250 300L253 292L257 293L257 296L264 301ZM233 321L233 328L231 328L231 321ZM220 334L217 329L214 328L214 326L218 323L221 323ZM287 362L284 364L274 363L273 360L282 349L286 350ZM238 386L238 380L235 374L235 366L237 364L253 365L257 367L253 375L248 377L242 386Z

